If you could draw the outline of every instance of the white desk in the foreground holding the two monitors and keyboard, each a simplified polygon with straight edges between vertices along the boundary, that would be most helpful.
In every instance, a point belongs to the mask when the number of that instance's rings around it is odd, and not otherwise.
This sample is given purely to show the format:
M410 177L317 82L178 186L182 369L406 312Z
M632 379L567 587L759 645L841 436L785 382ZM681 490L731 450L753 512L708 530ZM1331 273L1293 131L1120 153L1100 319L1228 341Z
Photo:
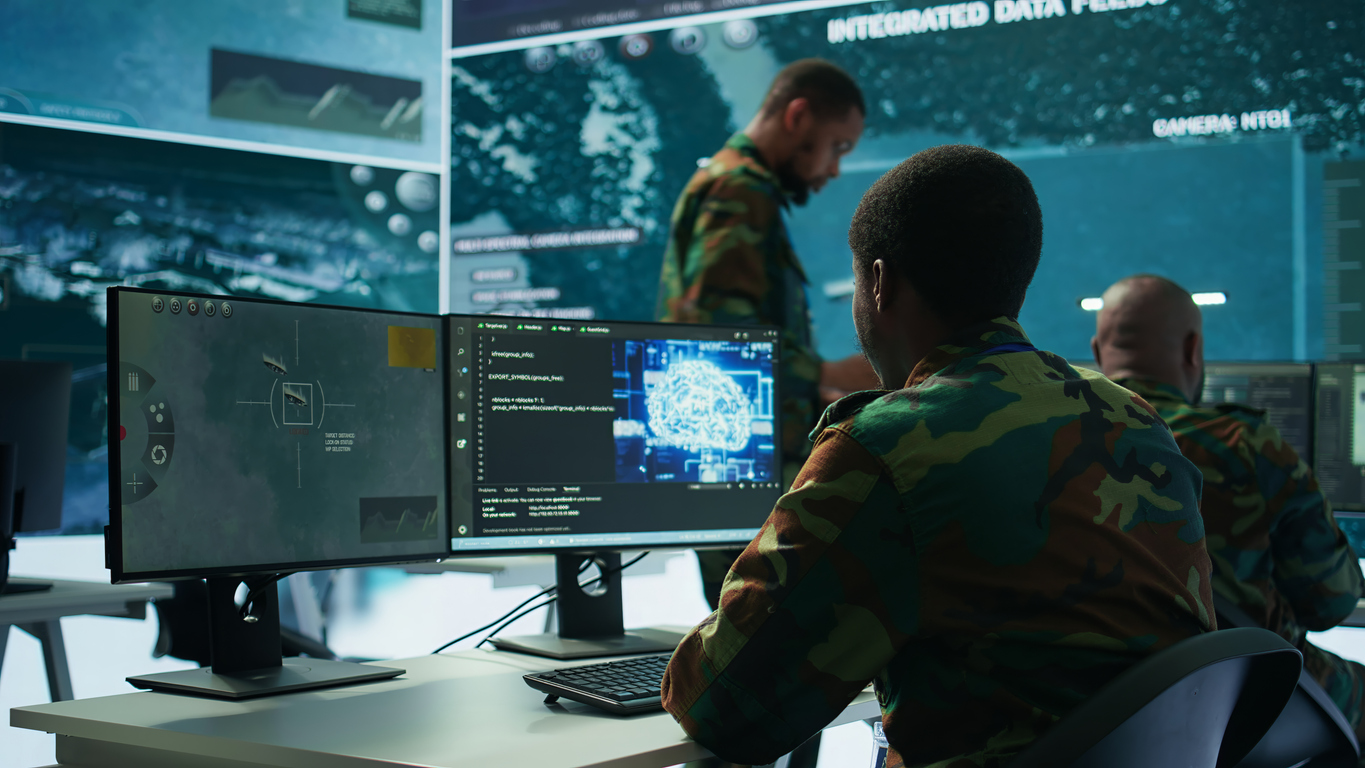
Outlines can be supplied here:
M666 712L546 705L521 681L571 663L464 651L393 664L408 674L240 703L130 693L18 707L10 724L57 734L59 763L91 768L657 768L710 754ZM830 726L878 715L864 692Z

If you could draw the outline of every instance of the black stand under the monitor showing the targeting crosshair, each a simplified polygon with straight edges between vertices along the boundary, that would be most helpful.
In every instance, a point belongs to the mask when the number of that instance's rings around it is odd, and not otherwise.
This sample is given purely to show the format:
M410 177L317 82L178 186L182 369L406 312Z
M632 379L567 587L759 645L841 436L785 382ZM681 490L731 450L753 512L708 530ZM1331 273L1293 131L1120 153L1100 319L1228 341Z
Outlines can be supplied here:
M295 690L388 679L407 670L284 659L280 653L280 597L274 584L261 589L246 619L233 595L239 584L257 588L266 580L209 578L209 643L213 664L199 670L128 678L136 688L216 698L251 698Z

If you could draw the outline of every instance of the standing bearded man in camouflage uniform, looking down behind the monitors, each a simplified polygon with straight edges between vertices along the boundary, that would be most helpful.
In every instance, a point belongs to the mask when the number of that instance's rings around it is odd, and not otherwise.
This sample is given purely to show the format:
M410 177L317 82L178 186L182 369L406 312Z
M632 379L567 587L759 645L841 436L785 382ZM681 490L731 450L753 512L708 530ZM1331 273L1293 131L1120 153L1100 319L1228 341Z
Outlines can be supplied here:
M863 94L818 59L784 68L763 106L699 169L673 209L657 316L680 323L775 325L782 480L811 453L822 360L811 334L805 270L782 216L839 173L863 134ZM738 550L699 551L714 608Z

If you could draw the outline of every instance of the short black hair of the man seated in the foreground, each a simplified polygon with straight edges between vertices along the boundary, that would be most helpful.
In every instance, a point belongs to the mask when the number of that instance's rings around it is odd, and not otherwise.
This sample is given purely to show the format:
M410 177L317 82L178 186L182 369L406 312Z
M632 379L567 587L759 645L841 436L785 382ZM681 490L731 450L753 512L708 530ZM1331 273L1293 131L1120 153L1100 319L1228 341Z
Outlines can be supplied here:
M1043 213L1028 176L994 151L920 151L863 195L849 247L864 274L886 261L945 322L1018 318L1043 251Z

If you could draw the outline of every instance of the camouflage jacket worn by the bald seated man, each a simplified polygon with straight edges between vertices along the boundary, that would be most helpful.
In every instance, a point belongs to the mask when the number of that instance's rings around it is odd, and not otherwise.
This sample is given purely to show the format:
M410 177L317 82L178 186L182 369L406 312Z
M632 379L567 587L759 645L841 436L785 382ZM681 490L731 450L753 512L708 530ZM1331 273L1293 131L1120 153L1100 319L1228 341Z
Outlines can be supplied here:
M1204 473L1204 529L1213 589L1302 645L1340 623L1361 596L1361 569L1313 471L1261 411L1190 405L1178 389L1119 379L1143 396Z

